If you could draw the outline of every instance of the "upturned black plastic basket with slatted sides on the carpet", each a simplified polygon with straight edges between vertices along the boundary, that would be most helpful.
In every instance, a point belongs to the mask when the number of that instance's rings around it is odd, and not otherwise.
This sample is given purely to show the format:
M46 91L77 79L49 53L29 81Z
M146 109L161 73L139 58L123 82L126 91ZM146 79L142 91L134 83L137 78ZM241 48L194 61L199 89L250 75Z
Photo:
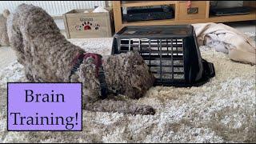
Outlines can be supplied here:
M136 50L160 86L201 86L214 77L202 59L191 25L126 26L114 35L112 54Z

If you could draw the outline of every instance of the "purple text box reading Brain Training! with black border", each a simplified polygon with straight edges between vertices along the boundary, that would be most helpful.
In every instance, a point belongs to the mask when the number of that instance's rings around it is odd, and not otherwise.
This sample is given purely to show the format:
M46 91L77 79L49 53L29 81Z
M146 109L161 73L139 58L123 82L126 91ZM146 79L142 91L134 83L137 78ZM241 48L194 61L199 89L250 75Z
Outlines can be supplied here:
M7 130L82 130L82 83L7 85Z

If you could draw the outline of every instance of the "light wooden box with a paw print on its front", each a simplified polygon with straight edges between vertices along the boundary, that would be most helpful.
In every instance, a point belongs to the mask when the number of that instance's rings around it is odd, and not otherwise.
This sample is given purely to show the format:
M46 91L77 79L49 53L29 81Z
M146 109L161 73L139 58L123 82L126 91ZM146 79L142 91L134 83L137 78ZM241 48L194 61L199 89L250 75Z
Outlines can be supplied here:
M90 13L84 13L87 10ZM94 9L70 10L63 14L67 38L108 38L114 34L113 10L92 13Z

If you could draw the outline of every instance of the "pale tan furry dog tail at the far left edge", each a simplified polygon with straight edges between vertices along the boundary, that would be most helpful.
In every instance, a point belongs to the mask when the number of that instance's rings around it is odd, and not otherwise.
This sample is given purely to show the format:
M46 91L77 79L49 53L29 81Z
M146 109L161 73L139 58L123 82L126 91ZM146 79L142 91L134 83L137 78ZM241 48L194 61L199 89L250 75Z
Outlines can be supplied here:
M9 14L9 10L3 10L2 14L0 14L0 46L10 45L6 27L6 20Z

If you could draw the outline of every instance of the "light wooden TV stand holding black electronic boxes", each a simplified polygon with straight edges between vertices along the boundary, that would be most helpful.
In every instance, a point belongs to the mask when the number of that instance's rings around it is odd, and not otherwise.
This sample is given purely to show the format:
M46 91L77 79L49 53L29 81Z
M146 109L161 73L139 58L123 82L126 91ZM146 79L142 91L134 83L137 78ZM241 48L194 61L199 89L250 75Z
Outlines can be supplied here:
M122 7L159 5L173 6L175 18L140 22L122 21ZM244 2L244 5L256 7L256 2ZM256 20L256 9L250 12L250 14L210 16L210 1L192 1L192 6L198 7L198 14L186 15L186 13L184 13L184 10L186 10L186 1L113 1L115 31L117 32L118 30L121 30L123 26L179 25L201 22L238 22Z

